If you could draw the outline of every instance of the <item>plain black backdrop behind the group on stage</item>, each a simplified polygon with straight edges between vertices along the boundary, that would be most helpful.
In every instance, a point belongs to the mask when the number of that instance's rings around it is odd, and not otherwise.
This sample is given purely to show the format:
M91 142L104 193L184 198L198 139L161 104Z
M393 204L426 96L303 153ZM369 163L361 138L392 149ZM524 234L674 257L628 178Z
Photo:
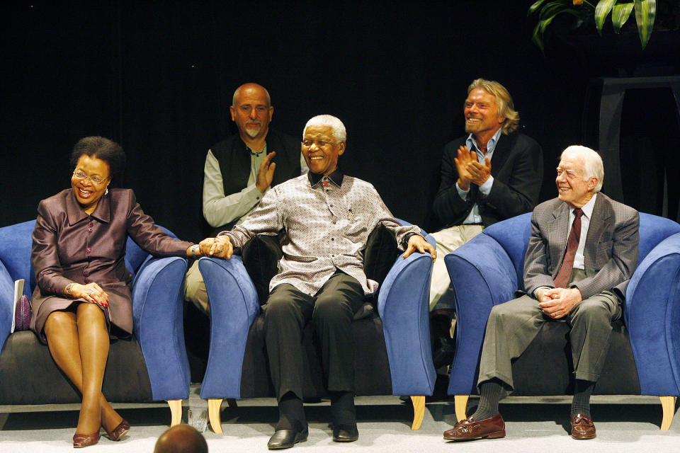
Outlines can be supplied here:
M581 140L587 81L570 55L531 43L531 1L360 3L18 1L4 6L0 226L35 217L69 187L68 155L85 135L128 154L125 186L183 239L204 234L203 162L234 132L229 103L266 86L272 127L299 136L312 115L348 130L344 171L370 181L397 216L436 226L431 201L443 145L463 133L467 85L512 93L543 146L546 182Z

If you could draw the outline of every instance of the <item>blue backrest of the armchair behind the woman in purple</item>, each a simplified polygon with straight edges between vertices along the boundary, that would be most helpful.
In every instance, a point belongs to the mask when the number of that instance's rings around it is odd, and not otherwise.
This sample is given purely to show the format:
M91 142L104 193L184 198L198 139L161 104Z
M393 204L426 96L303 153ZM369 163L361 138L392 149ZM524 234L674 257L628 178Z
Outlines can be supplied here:
M24 285L23 288L23 293L28 297L33 294L35 288L35 275L33 265L30 262L30 247L33 244L31 235L34 228L35 220L0 228L0 262L4 265L12 280L23 278L29 283ZM176 237L171 231L162 226L161 228L170 236ZM132 241L129 237L125 247L125 266L134 277L149 254L137 246L135 241Z

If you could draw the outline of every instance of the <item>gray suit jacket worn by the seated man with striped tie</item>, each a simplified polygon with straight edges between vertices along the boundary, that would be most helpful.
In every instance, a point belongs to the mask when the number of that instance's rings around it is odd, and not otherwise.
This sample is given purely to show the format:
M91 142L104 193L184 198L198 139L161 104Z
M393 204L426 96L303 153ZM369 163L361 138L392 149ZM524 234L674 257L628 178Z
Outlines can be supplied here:
M603 291L623 300L625 288L638 265L638 211L598 193L584 248L586 278L574 286L583 299ZM533 294L541 286L555 287L554 279L565 256L569 206L559 198L536 206L531 216L531 238L524 258L524 287Z

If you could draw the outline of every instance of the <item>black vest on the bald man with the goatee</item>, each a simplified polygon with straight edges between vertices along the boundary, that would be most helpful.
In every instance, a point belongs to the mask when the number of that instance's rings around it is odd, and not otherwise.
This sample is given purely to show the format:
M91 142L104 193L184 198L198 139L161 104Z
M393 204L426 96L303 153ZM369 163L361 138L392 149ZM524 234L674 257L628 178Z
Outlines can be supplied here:
M276 162L276 170L271 187L300 176L300 140L270 129L267 132L266 143L267 153L276 151L273 159L273 162ZM220 163L225 195L232 195L246 188L250 177L250 150L239 134L215 144L210 150ZM219 226L216 231L231 229L236 222Z

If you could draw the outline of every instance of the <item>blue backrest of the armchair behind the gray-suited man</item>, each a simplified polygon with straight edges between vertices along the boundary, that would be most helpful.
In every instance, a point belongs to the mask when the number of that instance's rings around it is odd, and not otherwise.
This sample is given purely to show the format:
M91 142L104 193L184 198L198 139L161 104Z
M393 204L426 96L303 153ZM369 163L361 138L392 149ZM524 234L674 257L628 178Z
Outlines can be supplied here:
M668 236L680 232L680 224L653 214L640 212L640 258ZM524 255L531 236L531 212L498 222L486 228L483 234L494 238L506 251L517 272L518 282L523 281Z

